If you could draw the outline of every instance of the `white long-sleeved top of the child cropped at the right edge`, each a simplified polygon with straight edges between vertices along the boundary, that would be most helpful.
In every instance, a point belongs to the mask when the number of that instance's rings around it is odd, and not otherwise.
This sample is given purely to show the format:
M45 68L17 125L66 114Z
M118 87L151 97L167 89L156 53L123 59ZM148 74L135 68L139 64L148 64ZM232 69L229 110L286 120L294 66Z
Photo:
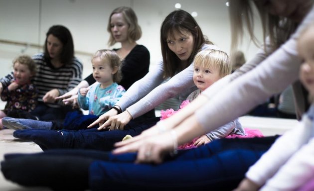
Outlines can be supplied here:
M246 176L261 191L295 191L314 177L314 105L297 127L279 137Z

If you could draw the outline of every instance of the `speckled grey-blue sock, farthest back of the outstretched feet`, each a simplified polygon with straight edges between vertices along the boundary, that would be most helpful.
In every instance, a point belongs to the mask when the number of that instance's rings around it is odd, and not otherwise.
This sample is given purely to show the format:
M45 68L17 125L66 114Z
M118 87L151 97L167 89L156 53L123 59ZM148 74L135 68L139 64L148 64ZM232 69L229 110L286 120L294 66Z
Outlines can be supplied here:
M38 121L33 119L16 119L3 117L2 124L10 129L51 129L51 121Z

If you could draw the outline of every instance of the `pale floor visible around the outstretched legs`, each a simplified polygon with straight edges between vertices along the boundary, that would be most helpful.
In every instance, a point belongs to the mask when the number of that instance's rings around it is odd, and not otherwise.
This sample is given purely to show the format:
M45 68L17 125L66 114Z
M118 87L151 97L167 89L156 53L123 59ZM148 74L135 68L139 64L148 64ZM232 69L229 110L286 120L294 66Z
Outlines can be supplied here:
M278 119L265 117L240 117L243 127L252 129L260 129L262 133L267 135L282 134L286 130L293 128L297 124L297 120ZM34 153L42 152L38 145L33 142L25 142L15 139L12 136L13 130L0 130L0 160L3 160L5 153ZM24 188L4 179L0 173L0 191L49 191L42 188Z

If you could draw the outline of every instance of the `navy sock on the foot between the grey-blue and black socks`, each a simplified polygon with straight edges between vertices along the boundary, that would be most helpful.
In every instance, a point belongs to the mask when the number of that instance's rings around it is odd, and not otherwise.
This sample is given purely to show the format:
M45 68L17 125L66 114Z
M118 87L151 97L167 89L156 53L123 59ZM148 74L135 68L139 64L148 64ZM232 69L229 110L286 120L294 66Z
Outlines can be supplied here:
M13 132L13 137L33 141L44 151L47 149L63 148L61 131L47 129L24 129Z

